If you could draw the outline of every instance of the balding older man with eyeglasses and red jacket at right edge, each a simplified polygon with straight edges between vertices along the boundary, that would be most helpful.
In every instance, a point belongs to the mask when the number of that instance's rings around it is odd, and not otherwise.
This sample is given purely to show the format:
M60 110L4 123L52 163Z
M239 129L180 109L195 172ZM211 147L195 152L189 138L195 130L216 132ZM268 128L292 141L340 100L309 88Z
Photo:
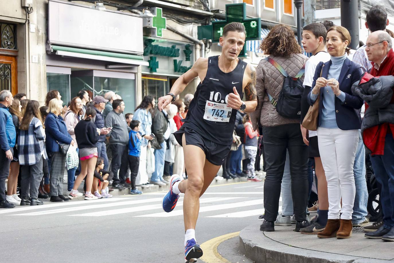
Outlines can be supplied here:
M387 32L378 30L368 36L365 52L368 60L372 62L371 75L389 76L394 75L394 52L392 50L392 40ZM364 76L366 80L368 75ZM361 80L362 82L362 80ZM385 82L382 83L381 90L386 88ZM380 200L383 211L383 224L374 232L368 232L364 236L371 239L383 239L384 241L394 241L394 95L391 97L390 104L379 109L368 108L363 119L364 144L372 151L371 162L374 168L376 180L381 185ZM373 104L371 104L373 105ZM375 114L377 112L377 114ZM383 121L382 121L383 120ZM375 124L368 127L370 124Z

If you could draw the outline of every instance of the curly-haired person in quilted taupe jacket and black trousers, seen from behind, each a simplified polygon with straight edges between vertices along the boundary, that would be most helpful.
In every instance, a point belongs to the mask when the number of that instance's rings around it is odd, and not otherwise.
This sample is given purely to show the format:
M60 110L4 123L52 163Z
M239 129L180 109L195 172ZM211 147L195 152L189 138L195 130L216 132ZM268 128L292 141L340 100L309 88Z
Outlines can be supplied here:
M279 24L274 26L264 38L260 49L268 58L281 65L288 75L296 76L305 65L308 58L304 56L297 43L294 32L289 26ZM309 226L306 220L308 205L308 147L304 144L300 118L285 118L276 110L268 99L268 94L275 100L285 77L269 62L261 60L256 68L258 106L251 113L251 121L256 129L262 125L264 151L266 153L266 179L264 183L264 221L261 231L275 231L274 222L277 220L281 182L286 161L286 151L290 157L290 176L292 181L292 197L294 202L294 217L296 229ZM298 74L299 75L299 74ZM299 80L303 81L304 75ZM301 103L300 103L301 104Z

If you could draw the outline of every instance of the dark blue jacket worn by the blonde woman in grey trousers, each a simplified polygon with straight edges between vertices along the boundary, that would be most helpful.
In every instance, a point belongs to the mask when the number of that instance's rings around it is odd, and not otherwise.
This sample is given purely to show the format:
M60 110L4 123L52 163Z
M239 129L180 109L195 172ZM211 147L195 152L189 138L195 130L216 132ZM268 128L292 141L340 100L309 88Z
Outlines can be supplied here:
M48 154L59 151L59 145L56 141L63 144L71 144L72 141L63 118L56 116L52 112L45 118L45 135L45 147Z

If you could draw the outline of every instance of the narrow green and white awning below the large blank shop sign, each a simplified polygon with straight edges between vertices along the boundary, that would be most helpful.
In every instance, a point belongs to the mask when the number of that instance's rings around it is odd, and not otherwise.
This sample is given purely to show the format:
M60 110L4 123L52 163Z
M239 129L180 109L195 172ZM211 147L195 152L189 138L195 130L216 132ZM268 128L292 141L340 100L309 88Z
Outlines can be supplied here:
M52 50L56 51L55 54L60 56L102 60L116 63L125 63L129 65L149 65L149 62L143 60L143 56L138 55L89 50L84 48L61 47L55 45L52 45Z

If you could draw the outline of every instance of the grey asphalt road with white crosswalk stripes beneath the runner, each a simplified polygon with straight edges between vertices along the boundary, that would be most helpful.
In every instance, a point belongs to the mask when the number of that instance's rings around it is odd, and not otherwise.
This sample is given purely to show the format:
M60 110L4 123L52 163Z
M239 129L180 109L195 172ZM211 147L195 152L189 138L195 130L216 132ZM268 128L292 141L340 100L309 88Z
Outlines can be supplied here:
M0 209L0 262L184 262L183 197L165 213L164 194ZM200 201L196 238L202 244L257 222L263 183L215 185ZM237 240L221 243L219 253L230 262L251 262Z

